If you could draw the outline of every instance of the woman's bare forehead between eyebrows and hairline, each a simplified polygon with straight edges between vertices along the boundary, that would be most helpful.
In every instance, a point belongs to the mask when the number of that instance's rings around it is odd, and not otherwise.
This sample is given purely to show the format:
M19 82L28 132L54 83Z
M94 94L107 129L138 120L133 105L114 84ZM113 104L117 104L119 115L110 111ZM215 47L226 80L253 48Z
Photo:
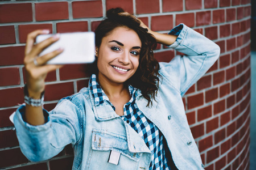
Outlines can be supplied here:
M112 40L122 42L124 45L141 46L141 39L139 39L138 34L133 29L127 27L117 27L102 39L102 41L106 42Z

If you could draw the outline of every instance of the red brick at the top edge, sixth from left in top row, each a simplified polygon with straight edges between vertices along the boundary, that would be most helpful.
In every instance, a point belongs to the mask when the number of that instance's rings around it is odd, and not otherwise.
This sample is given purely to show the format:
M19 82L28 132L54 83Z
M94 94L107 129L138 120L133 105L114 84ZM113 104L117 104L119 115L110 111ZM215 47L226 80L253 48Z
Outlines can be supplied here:
M182 11L183 1L163 0L163 12Z

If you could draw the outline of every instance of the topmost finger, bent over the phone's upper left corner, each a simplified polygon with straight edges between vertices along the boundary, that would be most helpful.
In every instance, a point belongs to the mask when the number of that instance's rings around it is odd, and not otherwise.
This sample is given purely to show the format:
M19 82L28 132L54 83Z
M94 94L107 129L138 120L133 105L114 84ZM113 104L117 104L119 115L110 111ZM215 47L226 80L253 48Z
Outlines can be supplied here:
M26 42L26 48L25 48L25 55L31 52L31 49L34 45L36 36L40 34L48 34L49 30L47 29L39 29L36 31L33 31L27 35L27 42Z

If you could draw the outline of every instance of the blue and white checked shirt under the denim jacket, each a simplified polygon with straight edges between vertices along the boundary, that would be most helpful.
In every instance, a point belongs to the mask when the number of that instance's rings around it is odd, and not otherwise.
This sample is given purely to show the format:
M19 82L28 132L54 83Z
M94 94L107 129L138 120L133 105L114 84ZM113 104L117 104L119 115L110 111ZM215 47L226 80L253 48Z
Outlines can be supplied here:
M89 88L90 91L92 91L95 105L108 102L115 111L114 105L109 101L108 96L105 95L100 84L98 84L95 74L93 74L89 80ZM121 116L121 118L123 121L126 121L131 128L137 131L152 152L149 169L171 169L168 167L166 153L164 151L163 134L141 111L139 111L135 103L136 90L137 88L129 86L131 99L123 106L124 116Z

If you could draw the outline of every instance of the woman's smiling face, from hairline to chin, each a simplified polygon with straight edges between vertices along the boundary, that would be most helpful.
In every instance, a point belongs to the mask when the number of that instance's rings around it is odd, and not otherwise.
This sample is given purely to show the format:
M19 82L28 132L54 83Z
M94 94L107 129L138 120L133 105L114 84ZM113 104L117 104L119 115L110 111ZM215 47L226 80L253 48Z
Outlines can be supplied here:
M133 29L117 27L96 48L100 82L123 83L139 66L141 40Z

